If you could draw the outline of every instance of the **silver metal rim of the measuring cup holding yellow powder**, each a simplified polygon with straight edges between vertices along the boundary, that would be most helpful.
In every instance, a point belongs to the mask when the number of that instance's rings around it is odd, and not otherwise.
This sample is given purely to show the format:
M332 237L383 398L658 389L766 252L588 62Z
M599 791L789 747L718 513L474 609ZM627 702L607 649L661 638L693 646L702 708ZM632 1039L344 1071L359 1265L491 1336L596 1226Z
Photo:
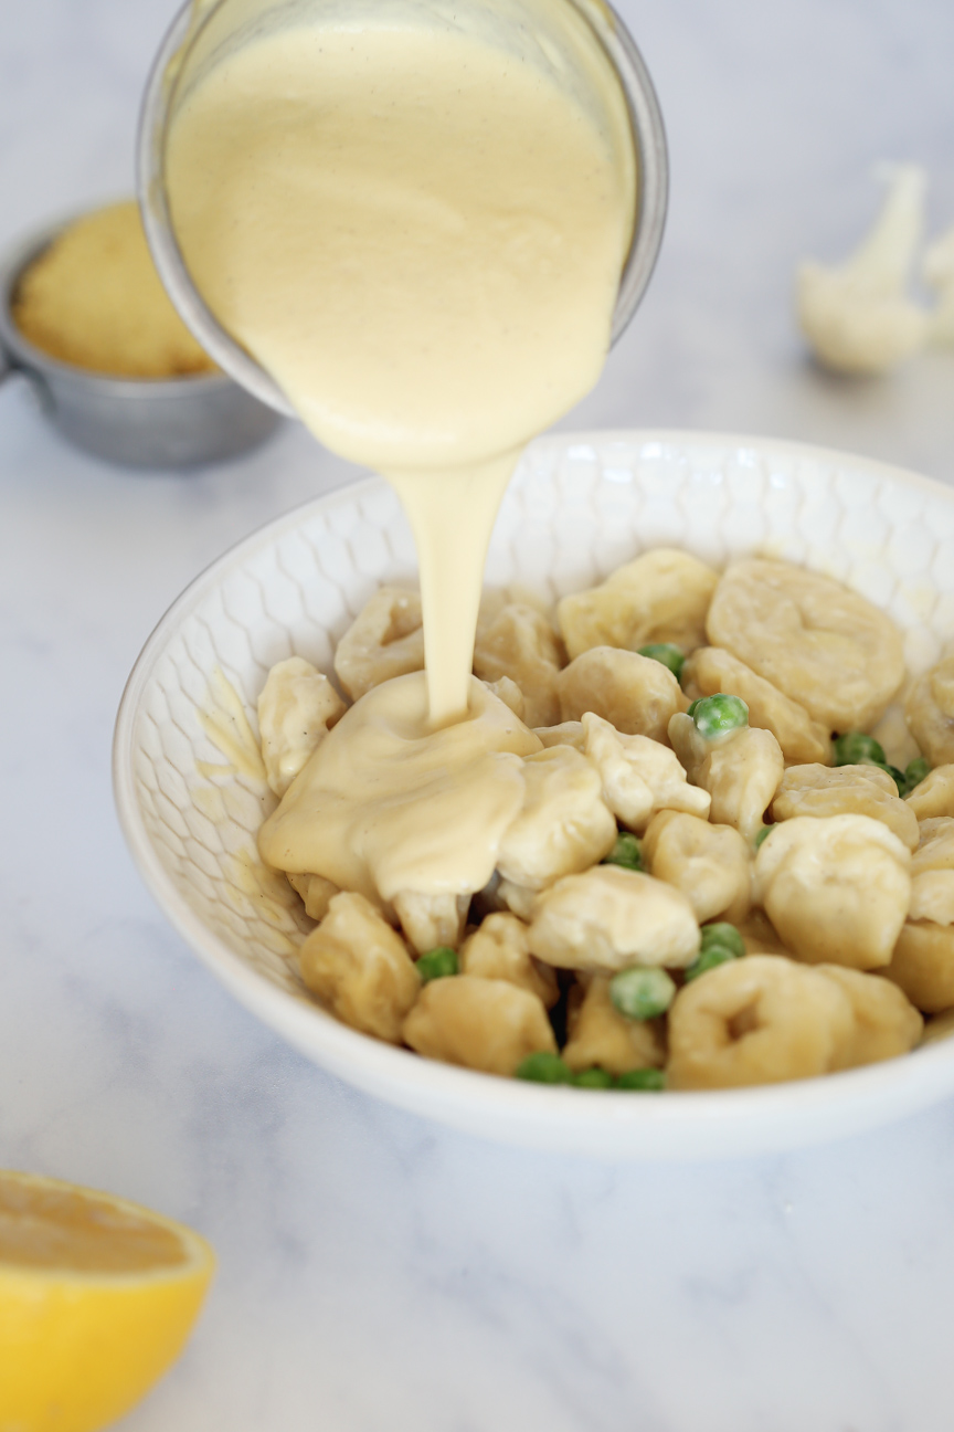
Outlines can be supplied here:
M239 388L226 372L197 372L183 374L177 378L136 378L129 375L113 375L96 368L82 368L79 364L54 358L53 354L37 348L19 328L13 316L13 295L21 275L40 255L64 233L79 219L109 209L116 203L136 203L134 195L106 198L99 203L84 205L82 209L70 209L59 218L47 219L44 223L29 229L14 239L3 253L0 253L0 357L11 359L13 371L26 372L27 377L40 374L41 378L67 381L77 387L84 387L90 392L97 392L110 398L143 397L162 400L182 398L186 394L195 397L200 392L220 392L229 388ZM1 369L0 369L1 375Z

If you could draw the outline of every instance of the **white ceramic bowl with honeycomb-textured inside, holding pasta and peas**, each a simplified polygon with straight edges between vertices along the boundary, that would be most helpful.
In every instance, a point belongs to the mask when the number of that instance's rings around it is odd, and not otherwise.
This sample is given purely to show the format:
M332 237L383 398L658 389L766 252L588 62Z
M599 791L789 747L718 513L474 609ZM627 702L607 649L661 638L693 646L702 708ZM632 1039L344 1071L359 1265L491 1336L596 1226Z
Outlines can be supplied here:
M792 442L685 432L548 438L501 511L488 584L549 596L592 586L648 547L722 564L765 553L828 573L894 617L914 670L954 637L954 491ZM492 1078L379 1044L318 1008L295 972L300 938L256 869L262 782L217 775L202 712L216 667L249 712L273 662L330 669L370 593L415 573L398 501L379 478L282 517L220 557L170 607L123 696L114 743L120 821L183 939L290 1044L350 1084L469 1133L602 1157L707 1158L837 1138L954 1091L954 1042L820 1080L705 1094L612 1094ZM212 684L210 684L212 679ZM197 765L202 763L202 765ZM209 765L206 765L209 763Z

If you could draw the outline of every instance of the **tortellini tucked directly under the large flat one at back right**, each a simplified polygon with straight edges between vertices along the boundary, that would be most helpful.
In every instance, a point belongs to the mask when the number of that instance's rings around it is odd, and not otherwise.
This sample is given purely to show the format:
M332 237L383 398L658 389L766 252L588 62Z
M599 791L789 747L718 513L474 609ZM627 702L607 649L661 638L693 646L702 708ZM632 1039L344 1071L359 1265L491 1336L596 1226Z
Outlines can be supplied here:
M682 690L689 700L717 692L741 696L748 706L749 726L771 730L787 762L831 762L828 727L812 720L804 706L764 676L757 676L731 652L718 646L702 646L694 652L682 669Z

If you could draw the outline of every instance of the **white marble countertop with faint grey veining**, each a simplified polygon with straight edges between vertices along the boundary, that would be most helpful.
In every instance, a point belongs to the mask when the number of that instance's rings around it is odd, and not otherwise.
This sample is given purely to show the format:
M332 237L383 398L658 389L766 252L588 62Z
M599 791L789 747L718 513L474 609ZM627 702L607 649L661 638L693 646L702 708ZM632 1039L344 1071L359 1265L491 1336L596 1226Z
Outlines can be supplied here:
M950 0L626 0L672 158L658 272L564 427L854 448L950 481L954 354L837 382L792 265L881 159L954 223ZM169 0L0 13L0 243L127 190ZM608 1166L458 1137L312 1068L164 924L113 813L126 674L226 546L352 475L297 428L192 475L67 448L0 388L0 1166L200 1227L220 1274L130 1432L947 1432L954 1107L851 1143Z

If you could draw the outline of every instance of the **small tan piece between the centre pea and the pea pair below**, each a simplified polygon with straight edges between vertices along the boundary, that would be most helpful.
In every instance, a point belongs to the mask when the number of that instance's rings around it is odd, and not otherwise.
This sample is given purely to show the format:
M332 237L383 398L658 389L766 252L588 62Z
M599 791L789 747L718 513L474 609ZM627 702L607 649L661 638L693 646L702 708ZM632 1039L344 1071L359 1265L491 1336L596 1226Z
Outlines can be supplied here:
M701 925L717 916L738 925L748 914L752 861L731 825L661 811L642 841L642 862L657 879L682 891Z

